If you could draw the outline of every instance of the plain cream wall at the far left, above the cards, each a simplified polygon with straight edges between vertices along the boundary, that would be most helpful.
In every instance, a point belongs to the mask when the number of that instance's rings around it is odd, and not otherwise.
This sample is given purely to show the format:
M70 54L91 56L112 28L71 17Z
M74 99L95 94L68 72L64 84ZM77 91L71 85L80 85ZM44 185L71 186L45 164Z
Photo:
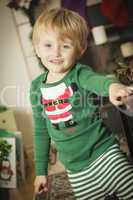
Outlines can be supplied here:
M0 1L0 104L13 108L27 148L32 146L30 76L8 1Z

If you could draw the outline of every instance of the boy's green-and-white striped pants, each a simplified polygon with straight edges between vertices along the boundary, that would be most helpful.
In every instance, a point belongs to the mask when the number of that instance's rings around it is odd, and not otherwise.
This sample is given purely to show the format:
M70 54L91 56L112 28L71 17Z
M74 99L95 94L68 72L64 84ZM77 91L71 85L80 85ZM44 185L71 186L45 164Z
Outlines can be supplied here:
M133 166L126 155L113 145L88 168L68 171L76 200L104 200L115 195L119 200L133 200Z

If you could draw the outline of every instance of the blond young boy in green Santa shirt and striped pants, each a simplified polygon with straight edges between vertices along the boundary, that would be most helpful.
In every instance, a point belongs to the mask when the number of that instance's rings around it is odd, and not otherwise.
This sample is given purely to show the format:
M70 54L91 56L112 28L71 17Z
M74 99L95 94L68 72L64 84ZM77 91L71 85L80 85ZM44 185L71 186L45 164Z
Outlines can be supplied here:
M132 88L78 63L87 48L88 27L67 9L44 11L33 29L33 44L45 70L31 85L34 118L35 192L47 192L50 141L66 167L77 200L106 195L133 199L133 168L99 115L97 96L114 105Z

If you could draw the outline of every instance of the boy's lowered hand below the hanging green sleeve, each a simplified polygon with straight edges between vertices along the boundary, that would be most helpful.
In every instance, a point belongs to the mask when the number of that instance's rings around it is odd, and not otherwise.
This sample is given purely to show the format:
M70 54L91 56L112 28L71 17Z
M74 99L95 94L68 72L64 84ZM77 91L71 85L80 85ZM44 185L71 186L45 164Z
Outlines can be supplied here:
M47 176L36 176L34 181L35 194L41 194L48 191Z

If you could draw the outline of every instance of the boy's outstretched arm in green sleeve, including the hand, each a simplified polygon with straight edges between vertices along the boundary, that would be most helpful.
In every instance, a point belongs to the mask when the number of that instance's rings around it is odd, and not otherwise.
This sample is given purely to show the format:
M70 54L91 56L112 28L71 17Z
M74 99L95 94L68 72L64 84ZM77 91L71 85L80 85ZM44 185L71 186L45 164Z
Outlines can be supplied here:
M123 105L127 97L133 94L133 86L123 85L113 75L100 75L87 66L79 67L77 79L82 88L99 96L109 96L115 106Z

